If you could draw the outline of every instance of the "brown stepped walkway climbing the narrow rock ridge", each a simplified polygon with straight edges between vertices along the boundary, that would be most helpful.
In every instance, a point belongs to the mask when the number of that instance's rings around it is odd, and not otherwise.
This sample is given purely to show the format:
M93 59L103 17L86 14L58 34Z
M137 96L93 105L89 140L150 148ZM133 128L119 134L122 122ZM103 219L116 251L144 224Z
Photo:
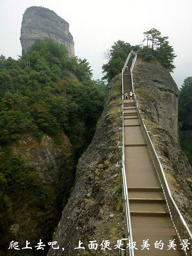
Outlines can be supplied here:
M127 73L127 70L125 72L123 76L124 93L132 89L131 75ZM135 247L138 248L138 250L134 250L134 254L135 256L183 256L179 240L172 227L155 166L139 123L135 103L131 102L130 99L124 100L123 110L125 172L133 241L136 242ZM171 241L176 245L170 248ZM145 242L150 246L143 247ZM155 247L155 243L159 243L157 245L159 249ZM162 245L163 249L161 250Z

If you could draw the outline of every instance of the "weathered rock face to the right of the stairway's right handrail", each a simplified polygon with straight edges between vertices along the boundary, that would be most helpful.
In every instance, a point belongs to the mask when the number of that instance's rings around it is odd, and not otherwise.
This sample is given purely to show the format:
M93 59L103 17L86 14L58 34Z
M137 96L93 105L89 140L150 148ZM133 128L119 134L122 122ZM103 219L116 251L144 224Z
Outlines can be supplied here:
M192 169L178 143L179 90L161 66L137 61L133 71L135 94L147 129L151 132L171 194L192 229Z

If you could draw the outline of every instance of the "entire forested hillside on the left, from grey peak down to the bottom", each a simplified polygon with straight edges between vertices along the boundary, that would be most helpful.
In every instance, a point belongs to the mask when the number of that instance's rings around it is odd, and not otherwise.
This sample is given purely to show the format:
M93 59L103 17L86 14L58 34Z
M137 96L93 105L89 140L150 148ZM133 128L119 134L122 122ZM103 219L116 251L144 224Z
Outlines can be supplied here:
M52 235L54 225L57 225L63 209L63 198L60 198L60 194L58 198L56 191L58 188L49 186L46 176L42 178L42 170L31 164L26 153L18 154L13 148L17 148L19 141L21 143L23 134L39 145L42 139L49 138L54 147L61 148L65 147L65 143L69 145L66 142L69 139L73 145L73 158L77 162L92 140L95 125L103 110L105 85L100 81L92 81L91 71L86 59L68 58L65 47L51 39L37 40L18 60L6 59L1 55L1 255L8 255L7 246L17 239L14 231L17 233L18 223L15 221L23 218L20 214L29 220L22 222L23 234L20 234L26 240L29 239L25 237L26 229L35 233L36 226L39 232L37 238L43 239L43 236ZM49 137L45 137L45 134ZM65 181L65 178L62 179ZM24 206L25 213L21 210ZM46 222L47 215L49 220ZM32 233L28 230L26 234ZM36 251L31 253L37 255Z

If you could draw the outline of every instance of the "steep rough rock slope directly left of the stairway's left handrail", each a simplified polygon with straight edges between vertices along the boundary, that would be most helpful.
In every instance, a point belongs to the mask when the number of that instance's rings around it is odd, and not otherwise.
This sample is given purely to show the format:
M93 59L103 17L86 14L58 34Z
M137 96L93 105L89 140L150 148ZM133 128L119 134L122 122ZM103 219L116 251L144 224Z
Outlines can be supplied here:
M117 255L114 244L123 238L121 169L117 164L121 78L114 80L105 110L98 122L91 145L79 159L76 184L63 210L53 241L58 241L64 254L100 255L102 241L111 243L113 250L105 255ZM79 241L85 249L76 249ZM89 241L97 241L98 250L90 250ZM62 250L50 249L47 255L63 255Z

